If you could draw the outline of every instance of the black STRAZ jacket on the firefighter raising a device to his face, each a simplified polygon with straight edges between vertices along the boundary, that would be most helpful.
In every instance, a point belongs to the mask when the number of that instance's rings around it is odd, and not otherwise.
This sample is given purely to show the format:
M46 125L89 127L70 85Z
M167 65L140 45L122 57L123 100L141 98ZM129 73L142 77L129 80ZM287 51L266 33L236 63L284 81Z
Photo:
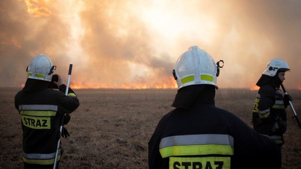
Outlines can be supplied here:
M31 164L54 163L60 138L60 121L65 113L79 106L74 91L61 85L59 91L47 88L45 81L27 80L23 90L15 95L23 130L23 161ZM60 160L60 155L57 160Z

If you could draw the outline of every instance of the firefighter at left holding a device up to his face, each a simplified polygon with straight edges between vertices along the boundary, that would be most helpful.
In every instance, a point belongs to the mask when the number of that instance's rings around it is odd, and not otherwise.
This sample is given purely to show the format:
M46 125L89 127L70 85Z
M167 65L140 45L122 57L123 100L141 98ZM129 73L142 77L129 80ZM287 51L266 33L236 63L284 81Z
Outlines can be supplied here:
M38 54L27 66L27 81L21 91L15 95L15 108L21 117L23 131L23 164L24 168L53 168L60 135L68 137L64 128L60 133L61 119L68 123L67 114L79 106L74 91L68 89L60 75L56 74L58 90L48 88L54 70L47 55ZM65 115L66 114L66 115ZM67 119L67 121L65 121ZM59 168L61 153L57 157L56 168Z

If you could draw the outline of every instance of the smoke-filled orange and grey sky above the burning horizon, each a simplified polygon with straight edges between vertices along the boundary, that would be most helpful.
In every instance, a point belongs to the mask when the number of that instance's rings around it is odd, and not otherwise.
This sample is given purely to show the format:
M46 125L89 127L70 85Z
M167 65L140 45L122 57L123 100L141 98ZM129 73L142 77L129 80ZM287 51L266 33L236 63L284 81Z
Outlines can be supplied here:
M0 0L0 87L21 87L47 54L72 87L175 87L189 46L224 60L219 87L251 88L272 58L301 78L299 0Z

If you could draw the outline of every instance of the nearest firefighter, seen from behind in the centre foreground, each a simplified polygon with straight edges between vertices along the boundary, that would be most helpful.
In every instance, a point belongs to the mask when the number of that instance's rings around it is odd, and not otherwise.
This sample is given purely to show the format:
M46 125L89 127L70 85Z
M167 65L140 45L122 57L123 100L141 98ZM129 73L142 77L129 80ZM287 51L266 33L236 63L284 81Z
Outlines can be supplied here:
M198 46L178 58L178 92L148 143L150 169L281 167L280 148L232 113L215 107L220 62Z

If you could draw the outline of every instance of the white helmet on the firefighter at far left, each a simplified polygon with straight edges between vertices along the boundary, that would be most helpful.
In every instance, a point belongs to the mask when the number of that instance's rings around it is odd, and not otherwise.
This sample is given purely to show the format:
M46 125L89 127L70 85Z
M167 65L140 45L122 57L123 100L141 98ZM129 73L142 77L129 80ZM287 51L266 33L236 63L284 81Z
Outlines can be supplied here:
M45 54L38 54L27 66L27 78L51 81L53 70L56 66L52 65L51 60Z

